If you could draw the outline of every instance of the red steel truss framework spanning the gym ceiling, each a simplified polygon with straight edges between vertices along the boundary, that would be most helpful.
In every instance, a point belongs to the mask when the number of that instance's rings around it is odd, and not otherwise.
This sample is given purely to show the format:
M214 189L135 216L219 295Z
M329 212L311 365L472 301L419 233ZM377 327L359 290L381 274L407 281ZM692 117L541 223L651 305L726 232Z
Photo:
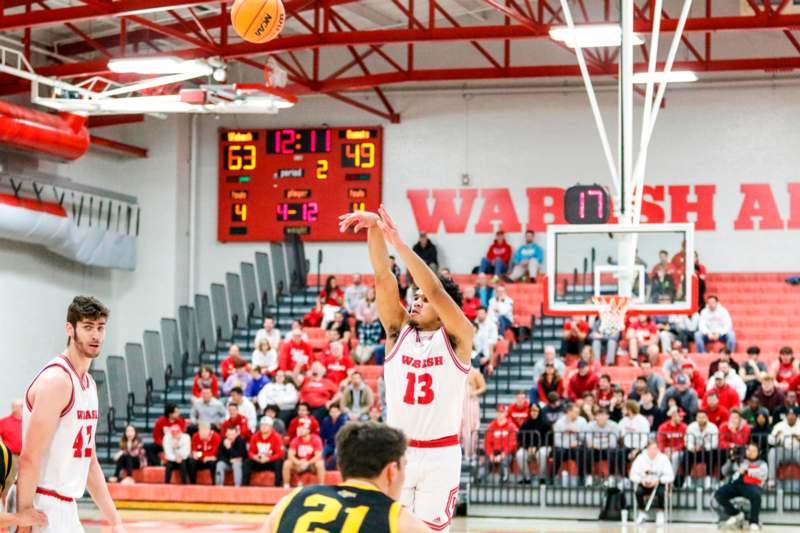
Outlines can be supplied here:
M467 17L466 8L454 8L465 2L480 6L481 16ZM747 2L752 12L740 13L738 6L734 12L730 9L731 4L739 4L738 0L695 0L682 39L686 53L679 56L683 59L676 61L674 68L698 73L762 74L800 69L800 13L787 9L793 2ZM652 2L635 3L635 30L649 35ZM291 92L325 94L393 122L400 117L384 92L387 85L580 76L574 56L549 38L551 26L564 23L558 0L385 0L381 11L397 23L383 27L367 26L363 17L352 16L357 8L374 9L374 1L284 0L284 4L291 31L260 45L234 38L224 0L80 0L67 7L49 5L46 0L0 0L0 32L19 37L30 54L36 31L68 28L69 39L60 39L57 46L43 43L61 60L47 57L34 63L39 73L58 77L106 73L109 58L121 55L217 56L260 70L272 56L289 73ZM616 22L616 2L579 0L572 5L578 24ZM662 13L661 31L671 35L678 8L675 2L665 5L669 11ZM106 23L117 21L118 32L93 34L87 30L87 21L101 19ZM775 56L767 50L742 46L741 54L718 54L713 46L718 36L736 32L780 36L785 53ZM547 43L552 48L550 57L512 53L513 42L530 40ZM444 51L459 44L473 49L473 65L452 67L445 61L439 66L430 66L430 61L420 65L421 45L439 46ZM646 70L648 49L639 48L636 69ZM559 62L553 63L552 57ZM614 49L587 50L586 59L594 76L613 77L617 73L618 53ZM0 94L27 88L20 80L0 76ZM372 91L377 98L365 103L357 95L347 94L364 90Z

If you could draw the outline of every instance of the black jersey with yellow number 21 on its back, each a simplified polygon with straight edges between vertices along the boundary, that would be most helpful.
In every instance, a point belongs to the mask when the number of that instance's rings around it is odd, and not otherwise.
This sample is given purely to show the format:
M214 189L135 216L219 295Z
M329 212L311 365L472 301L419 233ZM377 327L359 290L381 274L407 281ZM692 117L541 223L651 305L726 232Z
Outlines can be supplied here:
M275 533L400 533L400 503L366 483L298 488L278 505Z

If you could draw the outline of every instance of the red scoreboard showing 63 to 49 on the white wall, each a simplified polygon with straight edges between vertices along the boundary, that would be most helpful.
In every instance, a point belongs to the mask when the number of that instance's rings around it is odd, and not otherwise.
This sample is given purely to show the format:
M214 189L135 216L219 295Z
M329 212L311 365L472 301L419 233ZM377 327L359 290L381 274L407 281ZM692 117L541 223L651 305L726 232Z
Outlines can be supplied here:
M339 233L339 215L381 203L383 130L219 130L217 239L364 240Z

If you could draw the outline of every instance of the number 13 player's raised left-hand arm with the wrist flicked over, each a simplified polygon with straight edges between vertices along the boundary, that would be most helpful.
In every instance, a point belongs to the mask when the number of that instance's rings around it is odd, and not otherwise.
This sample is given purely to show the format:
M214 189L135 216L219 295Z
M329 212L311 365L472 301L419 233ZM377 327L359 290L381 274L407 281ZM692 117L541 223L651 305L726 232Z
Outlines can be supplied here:
M339 217L339 229L344 232L348 228L358 232L367 230L367 247L372 270L375 272L375 295L378 318L386 330L386 335L393 342L397 334L408 322L408 313L400 304L400 290L397 279L390 268L389 251L386 249L383 232L377 226L380 217L375 213L360 211L347 213ZM387 350L389 347L387 347Z

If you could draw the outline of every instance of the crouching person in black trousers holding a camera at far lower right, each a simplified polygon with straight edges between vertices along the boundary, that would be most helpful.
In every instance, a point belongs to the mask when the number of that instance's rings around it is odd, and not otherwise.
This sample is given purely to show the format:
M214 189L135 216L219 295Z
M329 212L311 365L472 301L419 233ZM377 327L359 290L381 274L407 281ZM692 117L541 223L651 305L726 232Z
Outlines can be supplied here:
M766 484L767 463L759 459L758 446L750 444L741 461L730 461L723 467L723 475L729 481L714 493L720 506L720 521L725 520L727 529L738 529L745 519L744 513L733 506L734 498L745 498L750 502L750 531L760 531L762 487Z

